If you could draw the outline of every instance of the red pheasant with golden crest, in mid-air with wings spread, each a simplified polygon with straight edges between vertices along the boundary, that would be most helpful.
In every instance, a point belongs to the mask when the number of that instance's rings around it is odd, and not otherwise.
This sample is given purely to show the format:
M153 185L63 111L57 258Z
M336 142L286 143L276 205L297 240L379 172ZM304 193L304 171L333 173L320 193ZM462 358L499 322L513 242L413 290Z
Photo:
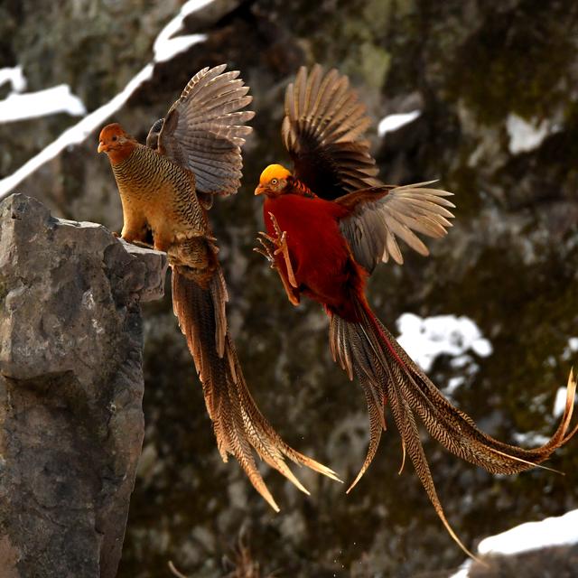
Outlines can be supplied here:
M424 449L419 419L443 446L463 460L502 474L527 470L566 443L576 383L571 373L562 421L548 443L525 450L501 443L478 429L452 406L379 322L365 296L368 275L391 257L402 264L400 238L422 255L428 249L415 235L441 238L451 226L449 193L431 183L391 186L380 182L363 133L365 107L336 70L323 75L302 68L285 94L282 137L294 162L289 172L272 164L262 172L256 195L264 195L266 233L257 238L281 277L289 301L307 295L329 317L330 346L350 378L364 390L369 414L368 453L355 486L373 460L386 430L390 407L404 454L453 539L468 554L443 513ZM402 463L403 469L403 463ZM401 470L400 470L401 471ZM350 491L348 489L348 491Z

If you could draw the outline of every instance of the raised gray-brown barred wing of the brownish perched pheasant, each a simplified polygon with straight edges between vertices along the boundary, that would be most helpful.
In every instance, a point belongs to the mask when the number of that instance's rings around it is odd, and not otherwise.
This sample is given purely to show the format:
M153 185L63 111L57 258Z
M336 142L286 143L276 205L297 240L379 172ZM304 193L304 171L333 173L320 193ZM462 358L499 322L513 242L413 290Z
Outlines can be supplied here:
M171 107L160 128L157 150L194 172L197 191L229 195L237 192L243 162L240 146L251 132L245 126L255 113L252 97L238 70L221 64L195 74ZM154 145L154 128L147 144ZM153 146L154 147L154 146Z

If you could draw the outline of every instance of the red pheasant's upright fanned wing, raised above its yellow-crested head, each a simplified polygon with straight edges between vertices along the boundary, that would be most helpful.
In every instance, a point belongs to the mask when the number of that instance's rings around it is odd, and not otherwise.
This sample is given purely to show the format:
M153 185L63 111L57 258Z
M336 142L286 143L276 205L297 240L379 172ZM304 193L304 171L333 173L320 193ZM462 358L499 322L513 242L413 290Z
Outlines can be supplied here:
M363 133L370 119L346 76L319 64L302 67L285 92L281 128L294 176L323 199L333 200L381 184Z

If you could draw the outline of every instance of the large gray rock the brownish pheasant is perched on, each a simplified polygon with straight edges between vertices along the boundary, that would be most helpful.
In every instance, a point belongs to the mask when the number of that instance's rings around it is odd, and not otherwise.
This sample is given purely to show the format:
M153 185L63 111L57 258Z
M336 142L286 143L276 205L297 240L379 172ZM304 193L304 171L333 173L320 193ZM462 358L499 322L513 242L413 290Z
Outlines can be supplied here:
M115 576L144 434L140 302L166 259L0 204L0 575Z

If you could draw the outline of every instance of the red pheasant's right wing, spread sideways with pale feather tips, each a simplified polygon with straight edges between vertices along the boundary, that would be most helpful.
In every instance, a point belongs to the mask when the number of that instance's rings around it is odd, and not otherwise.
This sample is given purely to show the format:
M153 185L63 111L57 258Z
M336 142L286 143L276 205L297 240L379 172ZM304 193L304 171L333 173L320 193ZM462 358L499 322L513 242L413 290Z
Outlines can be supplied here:
M453 193L428 189L432 182L384 185L352 192L335 201L350 209L349 216L340 220L341 232L348 239L355 260L369 273L379 262L387 263L390 256L403 264L396 238L403 239L421 255L429 255L415 232L441 238L447 233L446 228L452 227L449 209L455 205L445 197Z

